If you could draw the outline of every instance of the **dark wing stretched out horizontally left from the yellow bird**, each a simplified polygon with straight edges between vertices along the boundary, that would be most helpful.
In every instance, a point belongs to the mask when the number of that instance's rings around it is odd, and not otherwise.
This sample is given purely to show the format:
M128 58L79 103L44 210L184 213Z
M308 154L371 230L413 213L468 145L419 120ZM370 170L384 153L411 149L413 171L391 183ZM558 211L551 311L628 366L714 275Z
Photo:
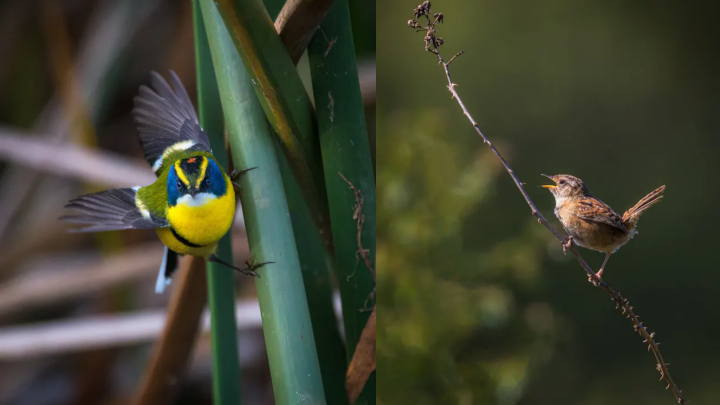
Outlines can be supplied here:
M136 202L134 188L116 188L87 194L70 200L65 208L79 211L79 215L66 215L60 220L84 228L74 232L101 232L119 229L155 229L169 226L164 218L150 213Z

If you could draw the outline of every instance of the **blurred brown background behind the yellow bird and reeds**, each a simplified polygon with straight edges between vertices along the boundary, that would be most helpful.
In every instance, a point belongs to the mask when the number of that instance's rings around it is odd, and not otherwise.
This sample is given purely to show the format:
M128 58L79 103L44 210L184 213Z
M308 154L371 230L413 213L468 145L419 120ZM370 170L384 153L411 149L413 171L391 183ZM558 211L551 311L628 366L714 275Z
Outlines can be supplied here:
M350 7L374 123L375 3ZM68 234L56 219L78 194L153 181L130 111L150 71L169 69L194 99L190 0L0 1L0 404L136 392L173 289L154 294L162 245L151 231ZM305 59L298 69L309 80ZM233 234L240 264L241 212ZM254 284L237 282L243 403L271 404ZM174 403L212 403L207 328L206 316L187 377L168 382Z

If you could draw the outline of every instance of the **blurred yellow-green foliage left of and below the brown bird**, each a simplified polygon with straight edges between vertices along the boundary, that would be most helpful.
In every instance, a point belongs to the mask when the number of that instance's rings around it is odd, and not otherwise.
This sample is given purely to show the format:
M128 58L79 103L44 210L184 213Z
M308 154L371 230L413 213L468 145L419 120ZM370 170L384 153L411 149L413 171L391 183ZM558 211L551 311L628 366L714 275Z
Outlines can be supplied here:
M547 235L528 218L525 231L505 241L465 240L504 172L482 145L459 150L437 114L422 117L380 123L387 138L377 207L393 221L378 223L378 398L514 403L557 338L557 315L532 297Z

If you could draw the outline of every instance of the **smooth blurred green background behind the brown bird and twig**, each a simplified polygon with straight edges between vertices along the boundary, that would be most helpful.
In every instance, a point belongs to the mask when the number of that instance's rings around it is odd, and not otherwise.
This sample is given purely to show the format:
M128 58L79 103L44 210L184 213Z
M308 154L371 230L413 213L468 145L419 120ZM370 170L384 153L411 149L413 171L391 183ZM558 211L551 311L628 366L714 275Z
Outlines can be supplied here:
M377 13L379 403L675 403L450 99L407 25L419 3ZM667 185L605 280L657 332L685 397L717 403L717 3L432 5L446 60L466 51L461 97L554 224L540 173L576 175L621 213Z

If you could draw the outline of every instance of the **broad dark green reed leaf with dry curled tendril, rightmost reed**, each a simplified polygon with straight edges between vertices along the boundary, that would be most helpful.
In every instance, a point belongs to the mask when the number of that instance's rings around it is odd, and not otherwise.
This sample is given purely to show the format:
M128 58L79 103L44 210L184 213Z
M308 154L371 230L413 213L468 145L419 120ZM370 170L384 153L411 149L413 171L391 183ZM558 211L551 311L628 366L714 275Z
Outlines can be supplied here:
M375 178L347 0L335 1L308 56L349 361L373 306ZM348 182L361 193L361 207ZM360 225L357 215L364 218ZM375 403L374 373L356 403Z

